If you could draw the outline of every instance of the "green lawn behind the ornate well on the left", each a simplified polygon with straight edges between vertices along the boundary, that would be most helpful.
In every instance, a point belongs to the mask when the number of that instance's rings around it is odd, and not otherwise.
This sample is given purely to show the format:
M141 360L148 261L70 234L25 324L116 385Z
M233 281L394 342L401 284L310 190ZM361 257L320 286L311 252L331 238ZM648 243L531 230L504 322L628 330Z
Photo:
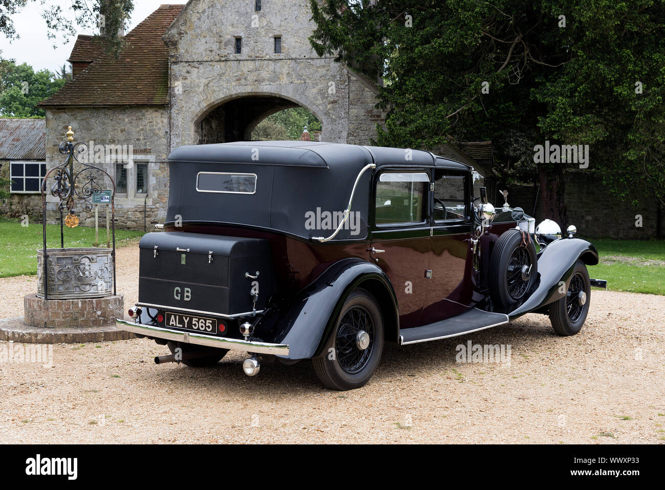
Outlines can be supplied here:
M143 232L116 230L116 246L130 242ZM106 230L99 230L100 246L106 246ZM47 225L47 246L60 248L60 225ZM65 247L91 247L94 228L65 227ZM37 250L43 247L42 225L31 222L21 226L19 220L0 218L0 278L37 274Z

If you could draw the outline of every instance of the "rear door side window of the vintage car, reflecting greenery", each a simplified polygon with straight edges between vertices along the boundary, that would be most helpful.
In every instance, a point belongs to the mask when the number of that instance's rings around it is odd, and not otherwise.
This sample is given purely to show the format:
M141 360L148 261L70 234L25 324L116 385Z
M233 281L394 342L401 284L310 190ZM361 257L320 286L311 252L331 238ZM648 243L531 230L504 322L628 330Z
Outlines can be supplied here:
M430 176L424 172L384 172L376 183L375 222L420 223L426 218Z

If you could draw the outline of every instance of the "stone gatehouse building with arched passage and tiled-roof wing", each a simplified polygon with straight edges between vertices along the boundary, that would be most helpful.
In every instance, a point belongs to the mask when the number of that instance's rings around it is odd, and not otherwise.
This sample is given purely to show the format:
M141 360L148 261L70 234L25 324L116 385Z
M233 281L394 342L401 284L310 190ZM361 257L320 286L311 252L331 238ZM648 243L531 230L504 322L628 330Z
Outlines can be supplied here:
M69 60L76 77L41 104L48 167L63 160L69 125L94 148L130 150L130 159L109 150L94 162L116 180L116 225L143 228L145 204L152 228L166 214L166 159L182 144L248 140L289 107L319 119L322 141L368 144L384 119L378 87L317 56L310 18L309 0L190 0L154 11L125 36L118 60L79 36ZM454 148L450 156L473 162Z

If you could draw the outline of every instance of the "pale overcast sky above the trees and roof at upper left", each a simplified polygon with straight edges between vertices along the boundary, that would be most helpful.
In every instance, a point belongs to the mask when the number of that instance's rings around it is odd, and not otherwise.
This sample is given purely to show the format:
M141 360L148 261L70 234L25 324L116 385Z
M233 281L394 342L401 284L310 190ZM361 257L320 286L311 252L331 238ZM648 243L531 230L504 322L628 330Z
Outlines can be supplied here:
M134 0L134 12L127 31L134 29L138 23L158 9L162 3L187 2L185 0ZM40 7L39 1L29 2L19 15L15 15L13 18L14 27L21 39L15 39L10 43L0 35L1 57L16 59L19 65L21 63L32 65L35 71L45 68L55 72L62 69L66 63L76 39L70 39L66 45L59 41L59 47L53 49L55 41L47 37L46 23L41 18ZM95 34L87 31L79 31L78 33Z

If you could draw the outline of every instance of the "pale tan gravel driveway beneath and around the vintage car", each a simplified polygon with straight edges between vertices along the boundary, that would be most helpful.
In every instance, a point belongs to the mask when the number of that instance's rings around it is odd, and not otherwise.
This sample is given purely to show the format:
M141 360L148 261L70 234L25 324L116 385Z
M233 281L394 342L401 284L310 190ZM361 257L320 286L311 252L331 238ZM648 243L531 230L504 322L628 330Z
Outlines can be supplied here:
M118 264L132 304L138 248L120 248ZM23 314L36 286L0 279L0 318ZM665 443L665 297L591 296L577 336L531 314L386 344L370 383L343 393L323 389L308 361L249 378L244 354L193 369L156 366L168 350L146 339L56 345L53 367L0 362L0 443ZM457 363L469 340L511 346L510 362Z

